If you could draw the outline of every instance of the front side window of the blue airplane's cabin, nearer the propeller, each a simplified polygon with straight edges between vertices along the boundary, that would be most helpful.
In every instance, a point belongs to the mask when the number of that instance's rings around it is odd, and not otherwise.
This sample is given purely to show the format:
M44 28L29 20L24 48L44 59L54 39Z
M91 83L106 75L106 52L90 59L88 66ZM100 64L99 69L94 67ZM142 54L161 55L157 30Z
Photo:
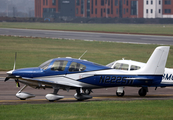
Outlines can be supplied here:
M51 70L53 71L64 71L68 61L57 60L53 63Z

